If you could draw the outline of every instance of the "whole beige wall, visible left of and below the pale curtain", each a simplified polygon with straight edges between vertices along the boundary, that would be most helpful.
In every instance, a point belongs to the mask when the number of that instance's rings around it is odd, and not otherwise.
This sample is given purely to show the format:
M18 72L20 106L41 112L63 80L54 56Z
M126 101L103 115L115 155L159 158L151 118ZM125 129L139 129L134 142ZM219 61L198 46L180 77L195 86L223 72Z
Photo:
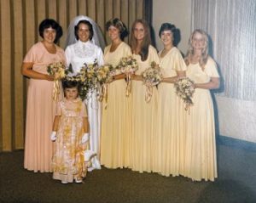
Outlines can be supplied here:
M186 53L191 33L191 0L153 0L152 24L157 48L162 48L158 31L164 22L170 22L181 31L181 42L178 48ZM218 133L230 138L237 138L256 143L256 103L232 99L216 94Z

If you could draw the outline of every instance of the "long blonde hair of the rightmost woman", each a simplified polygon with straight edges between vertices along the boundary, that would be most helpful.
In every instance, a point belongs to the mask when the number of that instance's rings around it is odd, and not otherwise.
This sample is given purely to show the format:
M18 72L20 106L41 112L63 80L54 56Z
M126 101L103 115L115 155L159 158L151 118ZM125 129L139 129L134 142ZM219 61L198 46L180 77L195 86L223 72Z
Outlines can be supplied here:
M196 29L195 31L193 31L193 33L189 37L189 50L188 50L188 53L186 54L186 57L184 60L185 60L186 65L189 65L191 63L191 59L192 59L193 55L195 54L194 48L192 46L192 40L193 40L195 33L200 33L205 42L205 46L202 49L201 58L199 59L199 65L201 66L201 69L204 70L205 65L207 64L207 59L208 59L208 36L207 36L206 31L203 31L201 29Z

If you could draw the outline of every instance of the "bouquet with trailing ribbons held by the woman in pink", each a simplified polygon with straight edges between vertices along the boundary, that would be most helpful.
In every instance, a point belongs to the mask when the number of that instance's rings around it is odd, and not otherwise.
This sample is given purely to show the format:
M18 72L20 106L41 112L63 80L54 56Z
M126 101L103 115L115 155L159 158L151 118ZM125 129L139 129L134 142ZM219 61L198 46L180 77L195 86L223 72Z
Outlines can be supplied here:
M66 67L61 61L55 62L47 66L47 72L54 77L53 99L56 101L61 92L59 81L66 76Z

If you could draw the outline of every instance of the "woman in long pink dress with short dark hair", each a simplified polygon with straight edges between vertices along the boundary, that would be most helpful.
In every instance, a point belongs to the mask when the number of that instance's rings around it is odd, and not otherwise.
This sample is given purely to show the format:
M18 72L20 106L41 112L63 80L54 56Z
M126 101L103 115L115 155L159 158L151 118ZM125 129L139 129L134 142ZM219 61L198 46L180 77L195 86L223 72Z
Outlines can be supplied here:
M55 116L55 101L52 98L53 77L47 73L47 66L60 61L66 64L66 59L64 51L55 45L62 36L62 28L55 20L43 20L39 34L43 40L30 48L21 66L21 74L30 78L24 167L33 172L51 172L53 144L49 135Z

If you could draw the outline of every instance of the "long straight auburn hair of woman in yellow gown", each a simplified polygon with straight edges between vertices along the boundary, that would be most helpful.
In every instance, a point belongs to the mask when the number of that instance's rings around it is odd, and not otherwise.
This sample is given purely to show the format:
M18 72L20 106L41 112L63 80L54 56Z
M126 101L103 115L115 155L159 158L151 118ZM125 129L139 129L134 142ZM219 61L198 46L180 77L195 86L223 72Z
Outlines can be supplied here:
M133 53L137 48L137 39L134 36L134 30L137 23L141 23L145 31L145 36L143 38L140 51L138 53L142 57L142 60L145 61L146 59L148 59L148 48L149 48L149 45L151 44L150 28L146 20L138 19L134 21L131 27L131 41L130 41L131 51Z

